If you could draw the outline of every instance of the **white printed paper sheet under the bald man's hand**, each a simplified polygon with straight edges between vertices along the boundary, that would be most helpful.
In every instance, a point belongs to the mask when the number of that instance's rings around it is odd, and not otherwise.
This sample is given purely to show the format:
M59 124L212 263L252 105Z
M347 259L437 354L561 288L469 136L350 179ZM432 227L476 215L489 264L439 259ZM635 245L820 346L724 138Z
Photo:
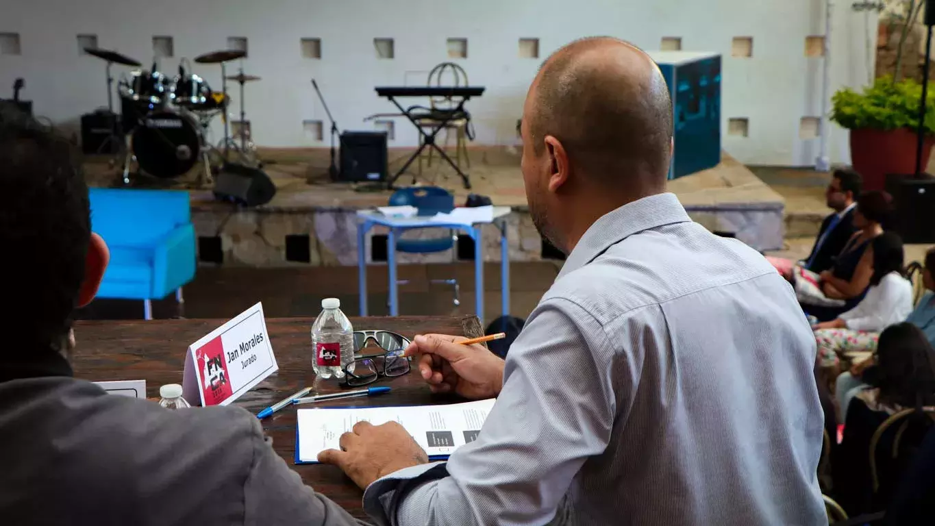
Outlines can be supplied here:
M473 442L496 399L452 405L349 407L298 410L296 462L316 462L324 449L338 449L338 440L361 420L380 425L396 420L428 456L451 455Z

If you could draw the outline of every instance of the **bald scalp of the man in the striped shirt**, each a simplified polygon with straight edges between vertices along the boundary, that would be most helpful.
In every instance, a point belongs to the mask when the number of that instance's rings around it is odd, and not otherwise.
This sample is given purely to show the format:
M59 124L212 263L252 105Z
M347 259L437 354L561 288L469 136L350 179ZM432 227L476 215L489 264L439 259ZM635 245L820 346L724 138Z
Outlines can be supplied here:
M572 42L549 57L535 84L529 134L537 153L553 135L572 165L611 184L665 184L672 139L666 80L642 50L611 37Z

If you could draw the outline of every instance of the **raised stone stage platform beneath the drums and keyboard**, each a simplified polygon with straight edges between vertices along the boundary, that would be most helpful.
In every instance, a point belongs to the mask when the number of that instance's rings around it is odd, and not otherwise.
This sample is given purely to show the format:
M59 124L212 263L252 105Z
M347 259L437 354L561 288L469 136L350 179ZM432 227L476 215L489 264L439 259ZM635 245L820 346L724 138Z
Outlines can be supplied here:
M435 184L464 203L469 192L490 196L495 205L511 206L508 220L511 261L542 259L542 241L529 216L520 173L520 152L511 148L470 149L466 167L473 185L462 188L450 167L438 157L424 165L420 184ZM409 157L410 150L390 150L390 171ZM385 205L390 191L333 183L327 178L327 149L261 149L266 174L276 183L276 197L266 206L243 209L213 199L210 190L193 189L194 174L173 180L135 178L133 188L188 189L192 220L199 238L202 264L237 266L353 265L357 263L355 212ZM427 160L426 160L427 161ZM413 163L410 171L418 171ZM106 159L86 163L89 184L118 186L115 170ZM409 185L405 174L397 185ZM122 185L120 185L122 186ZM755 249L783 248L784 198L726 153L712 169L669 183L689 215L712 231L736 235ZM381 238L374 228L367 236L367 261L381 263ZM407 237L437 237L438 229L408 233ZM374 237L377 242L374 243ZM484 260L500 259L496 227L483 232ZM374 250L374 246L378 249ZM468 250L468 253L472 252ZM374 255L377 256L376 261ZM399 263L452 263L451 252L400 254Z

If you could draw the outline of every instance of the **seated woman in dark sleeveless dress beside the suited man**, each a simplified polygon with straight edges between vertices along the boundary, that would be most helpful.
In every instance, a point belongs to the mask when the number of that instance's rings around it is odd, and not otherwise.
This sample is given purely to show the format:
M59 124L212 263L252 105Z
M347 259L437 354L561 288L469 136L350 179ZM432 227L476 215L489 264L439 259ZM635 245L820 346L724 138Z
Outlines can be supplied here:
M859 230L841 249L831 268L818 275L797 269L793 282L806 313L819 321L834 320L860 302L873 275L870 242L883 234L883 225L891 212L892 199L888 193L862 193L854 213L854 225Z

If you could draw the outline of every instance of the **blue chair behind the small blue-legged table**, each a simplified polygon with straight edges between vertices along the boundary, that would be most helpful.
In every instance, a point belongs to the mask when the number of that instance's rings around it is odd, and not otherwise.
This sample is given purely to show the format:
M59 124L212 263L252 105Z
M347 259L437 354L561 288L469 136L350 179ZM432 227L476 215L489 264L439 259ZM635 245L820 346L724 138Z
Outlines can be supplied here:
M437 186L408 187L393 192L388 204L389 206L415 206L420 210L420 215L431 215L435 212L451 212L454 207L454 196L451 192ZM408 254L430 254L453 250L452 261L454 262L457 258L457 244L457 231L449 230L448 235L428 239L397 238L396 247L389 247L388 249L395 249ZM399 284L408 283L405 279L396 282ZM461 305L461 287L458 285L456 278L430 279L429 283L452 286L454 290L453 305Z

